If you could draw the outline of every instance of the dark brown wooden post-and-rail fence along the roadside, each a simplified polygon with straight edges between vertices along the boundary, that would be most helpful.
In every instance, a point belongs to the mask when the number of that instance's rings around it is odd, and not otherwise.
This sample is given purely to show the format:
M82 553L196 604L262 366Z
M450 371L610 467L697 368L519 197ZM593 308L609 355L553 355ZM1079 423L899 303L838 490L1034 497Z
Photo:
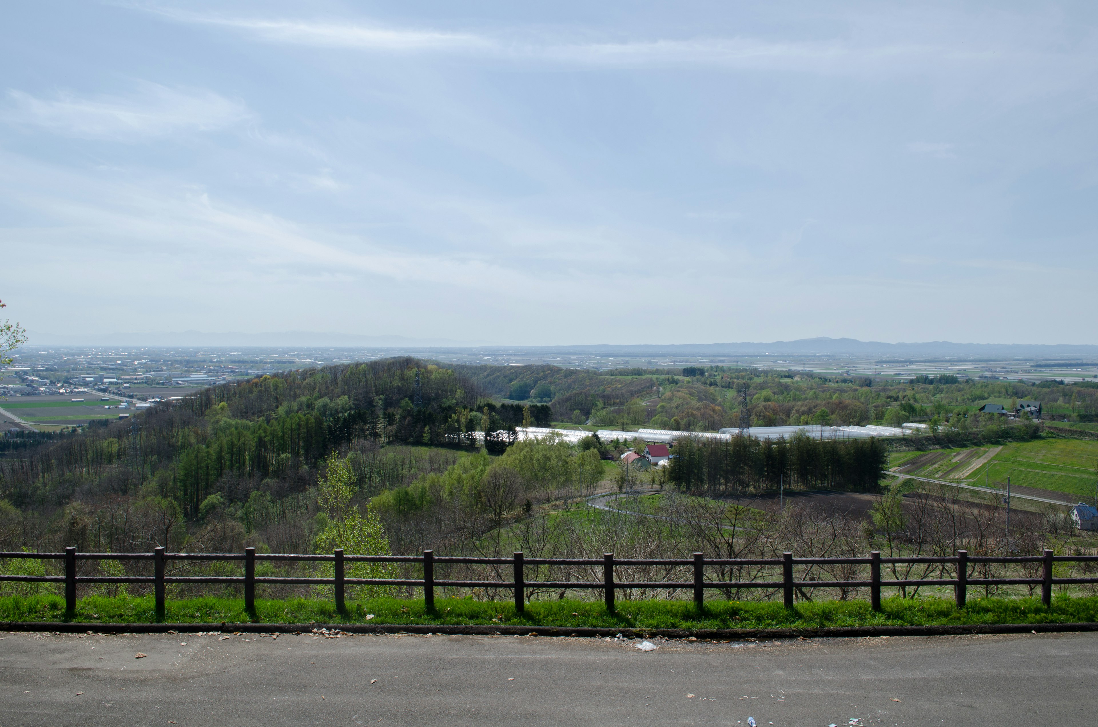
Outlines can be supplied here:
M348 585L404 585L422 588L424 593L424 605L428 611L435 607L435 588L457 586L457 588L495 588L514 591L515 609L523 613L526 592L530 589L552 588L552 589L586 589L601 590L606 602L606 608L614 611L615 594L619 590L628 589L672 589L693 590L694 603L698 608L705 605L706 589L771 589L775 593L781 590L787 608L793 607L794 591L802 588L869 588L870 601L874 611L881 609L881 590L884 588L898 586L921 586L921 585L945 585L953 586L956 605L964 607L970 585L1029 585L1041 586L1041 602L1047 606L1052 603L1052 586L1056 584L1084 584L1098 583L1098 578L1053 578L1053 563L1056 562L1098 562L1098 556L1055 556L1052 550L1045 550L1041 556L968 556L966 550L957 550L956 556L946 557L911 557L911 558L882 558L881 552L874 550L867 558L794 558L792 552L785 552L782 558L753 558L753 559L706 559L703 553L695 552L693 559L615 559L614 553L604 553L602 558L525 558L522 552L515 552L512 558L474 558L456 556L435 556L432 550L424 550L422 556L347 556L344 551L335 550L328 555L281 555L281 553L256 553L255 548L245 548L244 552L216 552L216 553L190 553L190 552L166 552L164 548L156 548L153 552L77 552L75 547L65 549L65 552L0 552L0 559L7 558L34 558L42 560L64 560L65 575L4 575L0 574L2 581L22 582L45 582L65 584L65 605L69 614L76 612L76 586L78 583L152 583L156 596L156 613L158 617L164 615L165 585L168 583L220 583L220 584L242 584L244 586L245 608L255 611L256 584L295 584L295 585L332 585L335 590L336 608L344 612L345 591ZM77 575L77 560L152 560L153 575ZM244 575L166 575L165 566L168 561L187 560L228 560L244 561ZM334 566L333 578L281 578L281 577L257 577L256 561L305 561L305 562L332 562ZM405 563L422 564L423 578L346 578L344 575L345 564L355 562L371 563ZM488 564L488 566L512 566L513 580L442 580L435 579L435 563L463 563L463 564ZM939 564L943 570L952 567L953 578L939 579L882 579L882 564ZM1041 563L1041 578L971 578L970 566L975 563ZM794 580L795 566L869 566L869 580ZM602 566L603 580L601 581L527 581L526 568L537 566ZM691 581L620 581L615 579L616 568L628 568L630 566L664 566L664 567L693 567L693 580ZM782 580L757 580L757 581L718 581L706 580L706 567L774 567L782 569Z

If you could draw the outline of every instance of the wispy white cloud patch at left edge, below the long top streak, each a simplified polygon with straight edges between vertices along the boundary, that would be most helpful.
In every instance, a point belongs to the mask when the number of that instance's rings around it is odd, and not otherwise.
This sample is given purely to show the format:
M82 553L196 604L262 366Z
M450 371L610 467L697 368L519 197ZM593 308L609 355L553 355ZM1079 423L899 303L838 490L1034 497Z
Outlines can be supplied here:
M204 89L168 88L143 82L130 96L51 98L8 91L0 119L80 138L138 141L180 131L214 131L249 116L236 101Z

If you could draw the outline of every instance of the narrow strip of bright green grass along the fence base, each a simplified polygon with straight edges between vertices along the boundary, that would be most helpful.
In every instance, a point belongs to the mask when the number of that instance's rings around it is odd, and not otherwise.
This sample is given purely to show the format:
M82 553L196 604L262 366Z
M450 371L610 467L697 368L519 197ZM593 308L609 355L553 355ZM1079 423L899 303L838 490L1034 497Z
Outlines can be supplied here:
M0 619L64 619L65 600L57 595L2 596ZM367 619L367 614L373 618ZM88 596L77 602L77 623L155 623L150 596ZM348 603L346 614L318 600L257 600L254 617L239 599L202 597L168 601L165 622L220 625L267 624L392 624L507 625L601 628L817 628L834 626L928 626L962 624L1049 624L1098 622L1098 597L1061 595L1051 607L1040 599L973 599L957 609L951 599L884 599L881 613L866 601L799 603L786 609L774 602L710 601L698 613L688 601L621 601L617 613L601 602L534 601L518 615L511 602L439 599L436 612L422 601L373 599Z

